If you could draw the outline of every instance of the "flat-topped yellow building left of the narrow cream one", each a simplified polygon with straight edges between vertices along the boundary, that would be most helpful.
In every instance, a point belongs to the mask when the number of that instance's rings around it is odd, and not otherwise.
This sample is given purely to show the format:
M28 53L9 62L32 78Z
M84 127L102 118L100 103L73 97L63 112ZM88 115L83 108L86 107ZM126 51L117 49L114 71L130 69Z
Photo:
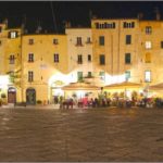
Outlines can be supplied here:
M67 61L65 35L24 35L22 38L23 101L35 104L36 100L50 102L53 96L58 93L63 96L60 87L68 83Z

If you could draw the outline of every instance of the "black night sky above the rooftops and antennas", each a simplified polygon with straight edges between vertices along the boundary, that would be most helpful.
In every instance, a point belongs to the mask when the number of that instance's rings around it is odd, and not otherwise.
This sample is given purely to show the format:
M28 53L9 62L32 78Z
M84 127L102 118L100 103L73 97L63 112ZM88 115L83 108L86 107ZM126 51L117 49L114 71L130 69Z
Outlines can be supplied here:
M159 8L163 18L163 1L7 1L0 2L0 20L9 18L9 26L16 27L26 17L26 28L36 29L38 22L43 29L54 32L51 4L59 32L64 29L64 21L71 21L73 26L89 26L89 11L97 17L137 17L138 12L146 20L154 18L154 9Z

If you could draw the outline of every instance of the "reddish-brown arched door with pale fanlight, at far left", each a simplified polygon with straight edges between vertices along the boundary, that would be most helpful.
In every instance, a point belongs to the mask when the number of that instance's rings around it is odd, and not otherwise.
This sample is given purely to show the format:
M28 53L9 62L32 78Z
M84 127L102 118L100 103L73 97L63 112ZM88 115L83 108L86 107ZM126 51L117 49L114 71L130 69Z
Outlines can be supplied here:
M8 103L16 102L16 89L14 87L10 87L8 89Z

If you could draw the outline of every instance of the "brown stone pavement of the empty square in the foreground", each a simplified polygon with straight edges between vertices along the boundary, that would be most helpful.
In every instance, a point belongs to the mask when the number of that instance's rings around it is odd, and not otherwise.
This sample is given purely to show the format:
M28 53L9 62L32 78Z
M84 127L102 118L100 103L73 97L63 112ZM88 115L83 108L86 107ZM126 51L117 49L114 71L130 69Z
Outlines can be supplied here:
M163 110L0 109L0 161L163 161Z

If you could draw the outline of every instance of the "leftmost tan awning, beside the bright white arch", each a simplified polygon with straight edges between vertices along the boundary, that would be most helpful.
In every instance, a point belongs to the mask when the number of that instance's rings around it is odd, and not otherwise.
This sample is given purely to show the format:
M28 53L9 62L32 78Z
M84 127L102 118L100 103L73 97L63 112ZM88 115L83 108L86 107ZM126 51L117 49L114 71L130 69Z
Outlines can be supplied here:
M100 90L100 87L87 83L71 83L62 87L62 90Z

